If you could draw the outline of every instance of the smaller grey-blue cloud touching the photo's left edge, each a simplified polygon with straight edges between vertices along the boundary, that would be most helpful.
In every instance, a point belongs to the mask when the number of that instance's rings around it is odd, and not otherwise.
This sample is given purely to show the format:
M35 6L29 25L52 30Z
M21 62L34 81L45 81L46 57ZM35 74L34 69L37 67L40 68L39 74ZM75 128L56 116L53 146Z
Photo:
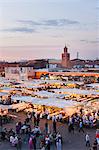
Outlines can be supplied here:
M16 28L9 28L9 29L3 29L1 31L4 32L24 32L24 33L32 33L35 32L34 29L32 28L27 28L27 27L16 27Z

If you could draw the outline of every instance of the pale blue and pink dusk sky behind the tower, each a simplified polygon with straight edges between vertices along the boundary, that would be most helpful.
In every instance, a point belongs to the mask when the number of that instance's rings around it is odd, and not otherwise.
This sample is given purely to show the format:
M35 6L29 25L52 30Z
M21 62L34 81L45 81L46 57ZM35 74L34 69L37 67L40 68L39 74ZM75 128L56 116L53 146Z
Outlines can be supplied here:
M99 59L98 0L0 0L0 60Z

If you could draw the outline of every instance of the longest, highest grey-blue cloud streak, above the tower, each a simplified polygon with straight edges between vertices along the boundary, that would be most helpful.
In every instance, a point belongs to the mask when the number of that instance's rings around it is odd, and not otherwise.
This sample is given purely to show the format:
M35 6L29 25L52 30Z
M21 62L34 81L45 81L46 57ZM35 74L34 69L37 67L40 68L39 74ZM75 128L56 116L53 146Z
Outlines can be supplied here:
M69 19L48 19L41 21L32 21L32 20L18 20L18 22L24 25L30 26L47 26L47 27L61 27L66 25L77 25L80 24L79 21L69 20Z

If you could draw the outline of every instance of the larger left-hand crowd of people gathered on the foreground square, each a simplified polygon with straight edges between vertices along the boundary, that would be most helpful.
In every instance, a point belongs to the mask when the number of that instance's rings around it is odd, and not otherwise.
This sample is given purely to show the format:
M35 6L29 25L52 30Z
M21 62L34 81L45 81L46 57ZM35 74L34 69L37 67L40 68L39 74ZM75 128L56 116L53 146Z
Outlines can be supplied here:
M50 147L55 143L57 150L61 150L61 135L56 132L56 118L53 117L53 132L49 131L48 119L46 118L45 129L41 132L39 127L40 114L28 113L24 122L17 122L16 129L7 130L4 128L1 132L1 140L7 140L12 147L17 150L22 149L23 143L28 143L30 150L36 148L42 150L50 150ZM32 129L31 123L33 122L34 128Z

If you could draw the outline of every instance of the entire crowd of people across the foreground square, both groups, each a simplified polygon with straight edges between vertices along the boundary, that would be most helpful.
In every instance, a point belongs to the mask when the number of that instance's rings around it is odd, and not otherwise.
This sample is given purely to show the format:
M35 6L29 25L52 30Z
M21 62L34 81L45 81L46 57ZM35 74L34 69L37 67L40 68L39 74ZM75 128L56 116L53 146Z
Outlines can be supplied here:
M46 111L47 112L47 111ZM44 131L40 129L40 113L27 113L24 122L17 122L16 129L10 129L7 131L4 128L1 132L1 140L8 140L12 147L16 147L17 150L22 149L23 143L28 143L29 150L50 150L54 145L57 150L62 150L62 135L57 131L57 122L62 122L63 116L60 113L58 116L53 115L49 118L49 113L45 112L45 127ZM93 150L97 150L99 145L99 130L96 130L96 137L93 143L90 142L89 133L85 132L85 128L94 127L98 120L99 112L86 113L83 109L80 109L79 113L75 113L68 117L66 123L68 124L68 131L71 134L78 130L85 134L86 147L92 147ZM52 120L53 130L50 131L49 119ZM31 127L31 124L34 127Z

